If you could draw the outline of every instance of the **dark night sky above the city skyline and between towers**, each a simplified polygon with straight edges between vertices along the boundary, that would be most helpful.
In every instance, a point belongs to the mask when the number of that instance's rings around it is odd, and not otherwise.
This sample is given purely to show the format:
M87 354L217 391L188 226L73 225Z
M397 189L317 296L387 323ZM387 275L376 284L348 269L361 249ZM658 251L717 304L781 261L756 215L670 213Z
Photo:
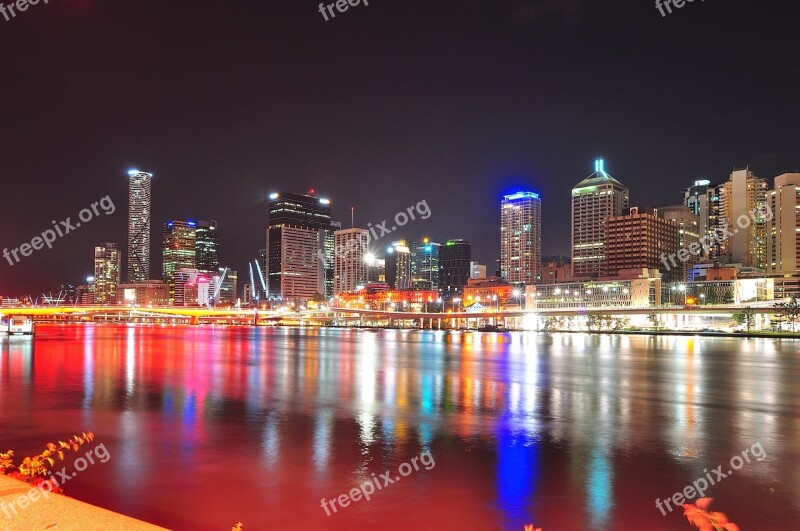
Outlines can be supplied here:
M499 257L499 207L543 197L543 251L569 252L569 190L602 154L634 205L699 178L800 168L796 1L51 0L0 17L0 247L105 195L117 212L10 267L0 294L80 282L126 238L125 171L166 219L216 219L243 273L266 196L311 187L349 226L427 201L397 237ZM389 226L392 223L388 223ZM395 236L395 235L392 235ZM390 238L385 240L386 243ZM490 270L492 268L490 267Z

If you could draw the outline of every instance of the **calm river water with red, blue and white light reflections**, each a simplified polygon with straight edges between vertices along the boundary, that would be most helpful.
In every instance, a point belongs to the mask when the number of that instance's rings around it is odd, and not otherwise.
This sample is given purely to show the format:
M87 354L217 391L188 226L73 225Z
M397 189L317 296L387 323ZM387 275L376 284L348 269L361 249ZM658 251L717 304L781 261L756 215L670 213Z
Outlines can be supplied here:
M792 529L799 350L766 339L41 326L35 340L0 339L0 450L36 453L91 430L111 458L67 493L174 529L549 531L689 529L656 498L704 469L727 472L760 443L765 459L707 495L744 530ZM426 451L430 470L330 517L320 507Z

